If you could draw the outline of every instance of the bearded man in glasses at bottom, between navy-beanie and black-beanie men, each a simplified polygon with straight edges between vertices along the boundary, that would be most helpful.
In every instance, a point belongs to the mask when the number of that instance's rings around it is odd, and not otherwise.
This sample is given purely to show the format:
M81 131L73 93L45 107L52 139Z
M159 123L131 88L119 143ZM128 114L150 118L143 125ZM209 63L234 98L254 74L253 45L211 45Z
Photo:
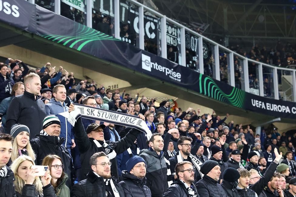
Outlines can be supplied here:
M180 162L175 168L177 179L164 192L163 197L199 197L197 189L193 185L194 170L192 163L185 161Z

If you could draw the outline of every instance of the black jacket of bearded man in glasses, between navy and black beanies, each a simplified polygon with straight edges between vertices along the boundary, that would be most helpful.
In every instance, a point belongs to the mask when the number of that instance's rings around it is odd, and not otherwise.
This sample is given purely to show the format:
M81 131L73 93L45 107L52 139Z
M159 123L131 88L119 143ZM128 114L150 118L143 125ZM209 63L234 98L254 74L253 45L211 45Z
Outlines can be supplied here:
M191 188L197 192L195 186L191 184ZM196 197L199 197L198 195ZM180 179L175 179L175 182L167 189L166 192L164 192L163 197L189 197L189 194L187 192L187 189L183 182L180 181Z

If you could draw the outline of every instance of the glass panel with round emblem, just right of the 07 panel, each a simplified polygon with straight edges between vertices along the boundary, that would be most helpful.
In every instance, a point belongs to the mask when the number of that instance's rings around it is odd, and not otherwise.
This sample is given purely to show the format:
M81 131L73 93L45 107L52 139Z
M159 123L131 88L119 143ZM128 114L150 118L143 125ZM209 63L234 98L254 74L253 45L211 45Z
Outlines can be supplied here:
M203 40L204 75L213 78L215 69L215 45Z

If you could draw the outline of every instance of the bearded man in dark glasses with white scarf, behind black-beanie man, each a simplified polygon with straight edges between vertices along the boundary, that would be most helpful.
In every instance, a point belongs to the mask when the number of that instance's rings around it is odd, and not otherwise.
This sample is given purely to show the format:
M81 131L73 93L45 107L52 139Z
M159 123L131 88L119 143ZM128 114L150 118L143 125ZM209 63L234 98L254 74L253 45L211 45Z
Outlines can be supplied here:
M200 135L200 134L199 134ZM201 137L200 137L201 138ZM178 144L178 149L179 152L176 152L176 154L169 159L170 161L170 170L172 175L175 174L175 167L177 166L178 163L183 162L183 161L188 161L191 162L191 158L189 157L190 153L191 153L191 142L192 142L192 138L187 137L187 136L182 136L180 137L180 139L178 140L177 144ZM201 140L199 140L198 142L195 142L195 146L197 146L196 148L199 149L200 147L200 142ZM195 155L197 152L197 149L195 152L192 152L192 155ZM193 165L193 169L195 170L194 173L194 184L197 183L197 181L199 181L201 179L201 175L200 173L198 173L197 168L198 166L194 166ZM177 175L177 173L176 173ZM176 178L176 176L175 176Z

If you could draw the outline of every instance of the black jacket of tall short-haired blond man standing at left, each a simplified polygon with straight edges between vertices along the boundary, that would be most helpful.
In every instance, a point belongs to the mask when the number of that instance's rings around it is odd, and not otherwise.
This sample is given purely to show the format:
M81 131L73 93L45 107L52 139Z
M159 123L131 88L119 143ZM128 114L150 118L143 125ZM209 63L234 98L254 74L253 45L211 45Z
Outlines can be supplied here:
M41 96L29 93L27 91L12 99L6 117L7 133L10 133L12 125L20 123L27 125L30 129L30 139L43 129L43 120L46 116L44 102L40 100Z

